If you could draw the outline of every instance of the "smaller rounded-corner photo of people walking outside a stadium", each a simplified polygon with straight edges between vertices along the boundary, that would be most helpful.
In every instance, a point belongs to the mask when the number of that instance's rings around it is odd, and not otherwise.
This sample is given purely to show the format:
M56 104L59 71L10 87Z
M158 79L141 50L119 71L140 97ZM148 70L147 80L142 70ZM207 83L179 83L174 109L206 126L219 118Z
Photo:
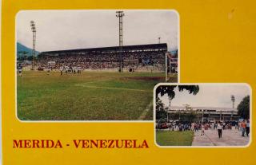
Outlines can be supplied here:
M247 84L158 84L154 89L159 147L246 147L251 140Z

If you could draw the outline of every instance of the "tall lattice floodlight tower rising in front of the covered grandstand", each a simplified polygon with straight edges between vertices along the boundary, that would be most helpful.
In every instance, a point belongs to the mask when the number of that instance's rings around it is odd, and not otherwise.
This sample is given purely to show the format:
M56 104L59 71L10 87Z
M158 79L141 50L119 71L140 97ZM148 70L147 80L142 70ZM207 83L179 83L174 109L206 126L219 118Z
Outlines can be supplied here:
M119 72L122 73L122 17L125 16L123 11L117 11L116 12L116 17L119 18Z

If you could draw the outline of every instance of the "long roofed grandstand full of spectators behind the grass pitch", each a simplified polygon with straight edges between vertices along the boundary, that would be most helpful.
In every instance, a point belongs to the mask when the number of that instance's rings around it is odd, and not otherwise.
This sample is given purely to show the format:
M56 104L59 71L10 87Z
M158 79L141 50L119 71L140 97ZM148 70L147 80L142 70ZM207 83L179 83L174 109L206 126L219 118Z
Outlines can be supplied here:
M167 45L122 46L122 64L125 71L164 71ZM91 49L69 49L38 54L38 68L60 69L80 67L82 70L117 70L120 64L120 48L102 47Z

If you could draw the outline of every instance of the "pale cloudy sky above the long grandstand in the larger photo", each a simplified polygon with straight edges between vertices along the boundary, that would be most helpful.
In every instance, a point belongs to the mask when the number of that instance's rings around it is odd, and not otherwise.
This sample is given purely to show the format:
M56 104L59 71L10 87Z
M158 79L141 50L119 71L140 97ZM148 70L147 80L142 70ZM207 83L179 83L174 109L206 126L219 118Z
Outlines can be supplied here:
M116 10L32 10L16 17L17 41L32 47L30 21L37 29L36 50L118 45ZM177 49L178 14L171 10L124 10L123 45L167 43Z

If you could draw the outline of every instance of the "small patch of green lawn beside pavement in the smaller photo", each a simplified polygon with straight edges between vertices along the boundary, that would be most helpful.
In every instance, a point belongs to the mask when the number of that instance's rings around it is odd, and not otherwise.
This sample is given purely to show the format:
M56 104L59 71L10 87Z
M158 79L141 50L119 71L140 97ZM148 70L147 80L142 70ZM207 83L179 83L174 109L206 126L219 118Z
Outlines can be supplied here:
M156 140L159 146L191 146L194 132L156 132Z

